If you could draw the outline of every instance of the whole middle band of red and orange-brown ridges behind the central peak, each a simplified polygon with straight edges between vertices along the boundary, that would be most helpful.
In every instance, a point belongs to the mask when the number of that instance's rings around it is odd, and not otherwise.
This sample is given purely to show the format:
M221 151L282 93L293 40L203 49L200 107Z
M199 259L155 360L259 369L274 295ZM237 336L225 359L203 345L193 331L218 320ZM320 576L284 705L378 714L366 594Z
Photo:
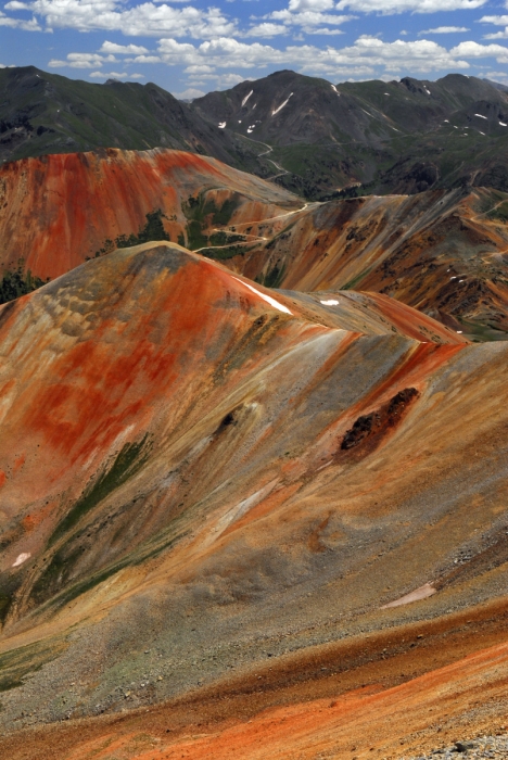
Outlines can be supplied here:
M193 153L49 155L0 167L0 265L23 259L33 275L59 277L110 250L107 240L137 235L160 208L174 242L206 249L251 279L389 295L491 340L508 331L507 199L474 188L304 203ZM230 246L208 240L225 229Z

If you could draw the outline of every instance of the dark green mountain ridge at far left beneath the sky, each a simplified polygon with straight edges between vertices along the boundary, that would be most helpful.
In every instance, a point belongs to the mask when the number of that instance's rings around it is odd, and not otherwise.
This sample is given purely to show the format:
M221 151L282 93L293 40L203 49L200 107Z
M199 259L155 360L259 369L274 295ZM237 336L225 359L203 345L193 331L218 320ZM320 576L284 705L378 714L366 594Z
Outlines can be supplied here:
M236 140L153 84L0 69L0 161L98 148L173 148L238 163ZM228 152L228 150L230 152Z

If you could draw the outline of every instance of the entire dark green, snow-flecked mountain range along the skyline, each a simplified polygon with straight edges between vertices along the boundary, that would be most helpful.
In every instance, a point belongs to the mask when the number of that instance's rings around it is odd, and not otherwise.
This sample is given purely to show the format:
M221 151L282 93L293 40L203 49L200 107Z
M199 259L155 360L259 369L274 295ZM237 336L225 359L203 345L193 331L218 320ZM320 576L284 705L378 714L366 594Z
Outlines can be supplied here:
M0 161L164 147L310 200L467 186L508 190L508 91L460 74L333 85L277 72L192 103L153 84L0 71Z

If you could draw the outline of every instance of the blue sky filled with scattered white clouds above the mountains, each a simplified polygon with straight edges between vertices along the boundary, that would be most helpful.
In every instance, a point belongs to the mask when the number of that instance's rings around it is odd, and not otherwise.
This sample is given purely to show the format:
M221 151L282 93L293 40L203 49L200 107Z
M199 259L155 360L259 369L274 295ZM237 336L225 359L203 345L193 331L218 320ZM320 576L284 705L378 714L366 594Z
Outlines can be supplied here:
M181 98L281 68L508 84L508 0L0 0L0 64Z

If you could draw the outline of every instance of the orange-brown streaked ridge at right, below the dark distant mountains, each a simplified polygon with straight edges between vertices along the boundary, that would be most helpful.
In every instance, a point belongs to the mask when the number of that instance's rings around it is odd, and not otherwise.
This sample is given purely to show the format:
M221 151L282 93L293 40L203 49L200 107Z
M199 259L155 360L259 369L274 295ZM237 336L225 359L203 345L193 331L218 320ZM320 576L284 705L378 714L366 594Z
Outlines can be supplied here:
M508 195L485 188L315 204L228 264L279 288L384 293L472 335L504 337L507 212Z

